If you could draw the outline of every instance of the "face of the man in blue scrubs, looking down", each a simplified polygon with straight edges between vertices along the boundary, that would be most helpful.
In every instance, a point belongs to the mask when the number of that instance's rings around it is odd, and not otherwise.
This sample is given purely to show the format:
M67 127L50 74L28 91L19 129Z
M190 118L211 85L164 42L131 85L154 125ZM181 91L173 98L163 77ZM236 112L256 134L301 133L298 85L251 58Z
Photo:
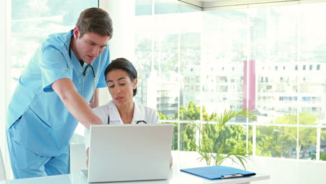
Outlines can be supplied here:
M110 36L100 36L97 33L88 32L80 37L79 33L78 27L75 27L75 40L72 45L72 50L77 56L77 59L91 64L103 52L103 49L107 46L107 42L110 40Z

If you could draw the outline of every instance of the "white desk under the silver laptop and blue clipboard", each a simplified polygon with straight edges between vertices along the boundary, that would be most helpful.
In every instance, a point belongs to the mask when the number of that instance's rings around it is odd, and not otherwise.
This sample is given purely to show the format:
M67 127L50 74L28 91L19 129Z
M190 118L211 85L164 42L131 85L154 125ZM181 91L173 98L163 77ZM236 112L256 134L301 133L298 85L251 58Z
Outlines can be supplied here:
M189 156L190 154L190 156ZM189 157L193 158L193 153L187 152L173 152L173 167L170 169L169 179L164 181L136 181L136 182L118 182L110 184L242 184L250 183L251 181L262 181L269 179L270 176L265 174L256 174L256 176L245 177L245 178L228 178L222 180L208 180L192 174L187 174L180 171L189 167L201 167L204 166L201 162L196 162L196 159L189 162ZM12 181L0 181L0 184L86 184L86 178L83 174L65 174L58 176L46 176L39 178L26 178Z

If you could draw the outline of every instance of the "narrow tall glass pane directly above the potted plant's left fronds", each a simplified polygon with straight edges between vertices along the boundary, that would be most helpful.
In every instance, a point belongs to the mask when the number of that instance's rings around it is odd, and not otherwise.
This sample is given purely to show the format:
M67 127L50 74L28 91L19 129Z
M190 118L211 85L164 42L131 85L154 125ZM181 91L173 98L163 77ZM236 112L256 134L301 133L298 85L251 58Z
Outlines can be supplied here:
M180 119L189 120L183 116L184 108L194 108L198 116L192 120L201 119L201 24L200 13L186 13L180 15L180 76L182 86L180 90ZM198 108L197 108L198 107ZM189 109L190 108L190 109ZM205 107L204 107L205 108Z

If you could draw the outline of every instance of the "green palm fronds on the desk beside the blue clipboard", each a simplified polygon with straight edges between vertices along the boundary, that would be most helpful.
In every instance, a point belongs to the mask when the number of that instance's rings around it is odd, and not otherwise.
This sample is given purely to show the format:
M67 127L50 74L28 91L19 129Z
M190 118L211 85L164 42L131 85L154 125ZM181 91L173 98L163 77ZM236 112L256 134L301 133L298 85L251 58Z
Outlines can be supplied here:
M211 163L219 165L227 158L230 158L233 162L241 164L245 169L245 162L249 159L249 155L247 154L245 144L238 141L243 140L245 137L245 133L239 133L244 132L244 130L240 125L235 125L233 128L226 126L228 121L237 116L256 119L256 115L249 113L247 109L230 109L228 111L225 110L223 114L216 117L217 123L189 123L189 125L194 125L200 133L199 144L193 141L190 145L191 148L201 155L200 160L205 160L208 165Z

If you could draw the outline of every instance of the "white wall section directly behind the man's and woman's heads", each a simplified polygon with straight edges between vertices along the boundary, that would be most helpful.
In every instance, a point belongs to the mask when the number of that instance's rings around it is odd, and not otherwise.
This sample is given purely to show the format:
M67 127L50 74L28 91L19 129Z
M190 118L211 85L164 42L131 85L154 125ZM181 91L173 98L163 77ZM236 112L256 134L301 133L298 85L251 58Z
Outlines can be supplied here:
M106 10L113 22L114 33L109 40L110 59L124 57L134 61L134 1L100 0L100 8ZM100 105L111 100L107 88L100 89Z

